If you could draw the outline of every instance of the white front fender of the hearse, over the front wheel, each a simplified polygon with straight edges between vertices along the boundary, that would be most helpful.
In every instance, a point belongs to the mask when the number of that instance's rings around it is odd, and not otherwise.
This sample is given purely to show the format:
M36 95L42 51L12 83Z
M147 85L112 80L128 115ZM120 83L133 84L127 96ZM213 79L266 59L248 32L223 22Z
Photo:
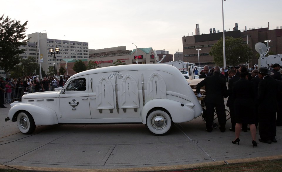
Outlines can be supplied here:
M16 121L16 115L19 111L24 110L31 114L35 125L53 125L58 124L56 112L46 106L39 107L38 104L31 103L12 103L8 116L11 121Z

